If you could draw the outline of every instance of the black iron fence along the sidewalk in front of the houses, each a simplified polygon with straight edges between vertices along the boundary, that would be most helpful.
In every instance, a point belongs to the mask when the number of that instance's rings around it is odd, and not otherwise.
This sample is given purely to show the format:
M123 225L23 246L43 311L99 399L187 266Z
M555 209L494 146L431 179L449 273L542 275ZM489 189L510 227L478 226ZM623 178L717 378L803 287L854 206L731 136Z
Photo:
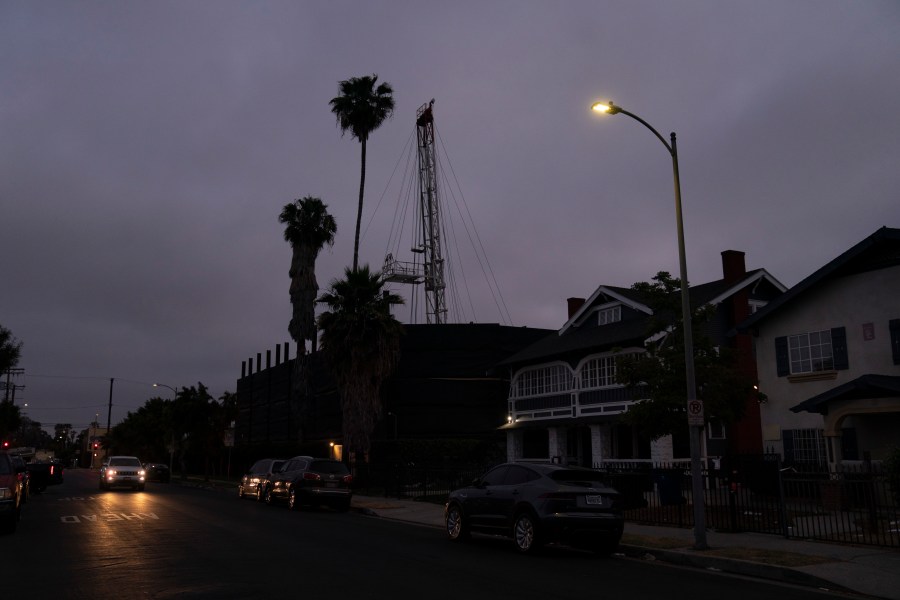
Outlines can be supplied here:
M693 526L691 470L675 463L604 462L627 521ZM359 493L443 503L485 468L363 465ZM900 489L878 463L798 468L778 455L741 456L702 470L706 524L728 532L900 548Z

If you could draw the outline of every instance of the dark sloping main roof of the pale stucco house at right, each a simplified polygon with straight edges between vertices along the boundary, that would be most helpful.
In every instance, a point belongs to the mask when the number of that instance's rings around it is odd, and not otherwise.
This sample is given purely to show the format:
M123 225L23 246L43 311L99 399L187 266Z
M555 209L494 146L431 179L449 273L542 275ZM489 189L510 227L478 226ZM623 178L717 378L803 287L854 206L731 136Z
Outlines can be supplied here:
M737 330L745 332L753 329L783 306L804 297L810 290L815 289L825 281L896 265L900 265L900 229L882 227L784 294L769 302L764 308L740 323L737 326Z

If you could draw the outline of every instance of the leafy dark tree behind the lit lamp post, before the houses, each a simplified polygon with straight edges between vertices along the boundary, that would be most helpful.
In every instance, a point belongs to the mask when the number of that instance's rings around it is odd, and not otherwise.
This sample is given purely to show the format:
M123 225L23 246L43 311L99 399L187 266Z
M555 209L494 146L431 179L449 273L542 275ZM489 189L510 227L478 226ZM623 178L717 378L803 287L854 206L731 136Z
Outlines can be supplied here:
M646 334L654 341L646 344L645 354L617 360L617 381L631 388L641 386L641 395L648 397L632 405L622 418L658 439L687 426L681 281L661 271L652 282L635 283L631 289L643 295L653 310ZM705 326L715 312L714 306L693 310L694 372L707 420L730 425L743 416L753 381L738 369L734 353L715 346L707 335Z

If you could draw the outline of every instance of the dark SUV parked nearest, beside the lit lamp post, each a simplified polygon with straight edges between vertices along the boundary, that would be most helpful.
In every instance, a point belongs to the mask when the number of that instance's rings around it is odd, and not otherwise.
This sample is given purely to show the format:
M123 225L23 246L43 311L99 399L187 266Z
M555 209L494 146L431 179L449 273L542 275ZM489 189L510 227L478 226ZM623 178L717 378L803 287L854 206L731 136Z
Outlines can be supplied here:
M559 542L612 554L624 529L619 493L599 471L548 464L506 463L450 493L447 535L473 531L511 537L523 553Z

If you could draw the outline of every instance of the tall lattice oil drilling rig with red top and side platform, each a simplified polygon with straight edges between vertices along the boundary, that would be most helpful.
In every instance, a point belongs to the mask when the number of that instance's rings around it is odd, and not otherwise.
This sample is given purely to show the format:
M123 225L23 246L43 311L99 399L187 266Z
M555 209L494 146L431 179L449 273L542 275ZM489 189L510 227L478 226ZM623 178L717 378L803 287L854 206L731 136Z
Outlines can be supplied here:
M419 182L420 240L411 251L421 261L403 262L388 254L382 277L385 281L425 285L425 320L429 325L447 322L444 258L441 249L441 202L438 194L434 140L434 99L416 111L417 167Z

